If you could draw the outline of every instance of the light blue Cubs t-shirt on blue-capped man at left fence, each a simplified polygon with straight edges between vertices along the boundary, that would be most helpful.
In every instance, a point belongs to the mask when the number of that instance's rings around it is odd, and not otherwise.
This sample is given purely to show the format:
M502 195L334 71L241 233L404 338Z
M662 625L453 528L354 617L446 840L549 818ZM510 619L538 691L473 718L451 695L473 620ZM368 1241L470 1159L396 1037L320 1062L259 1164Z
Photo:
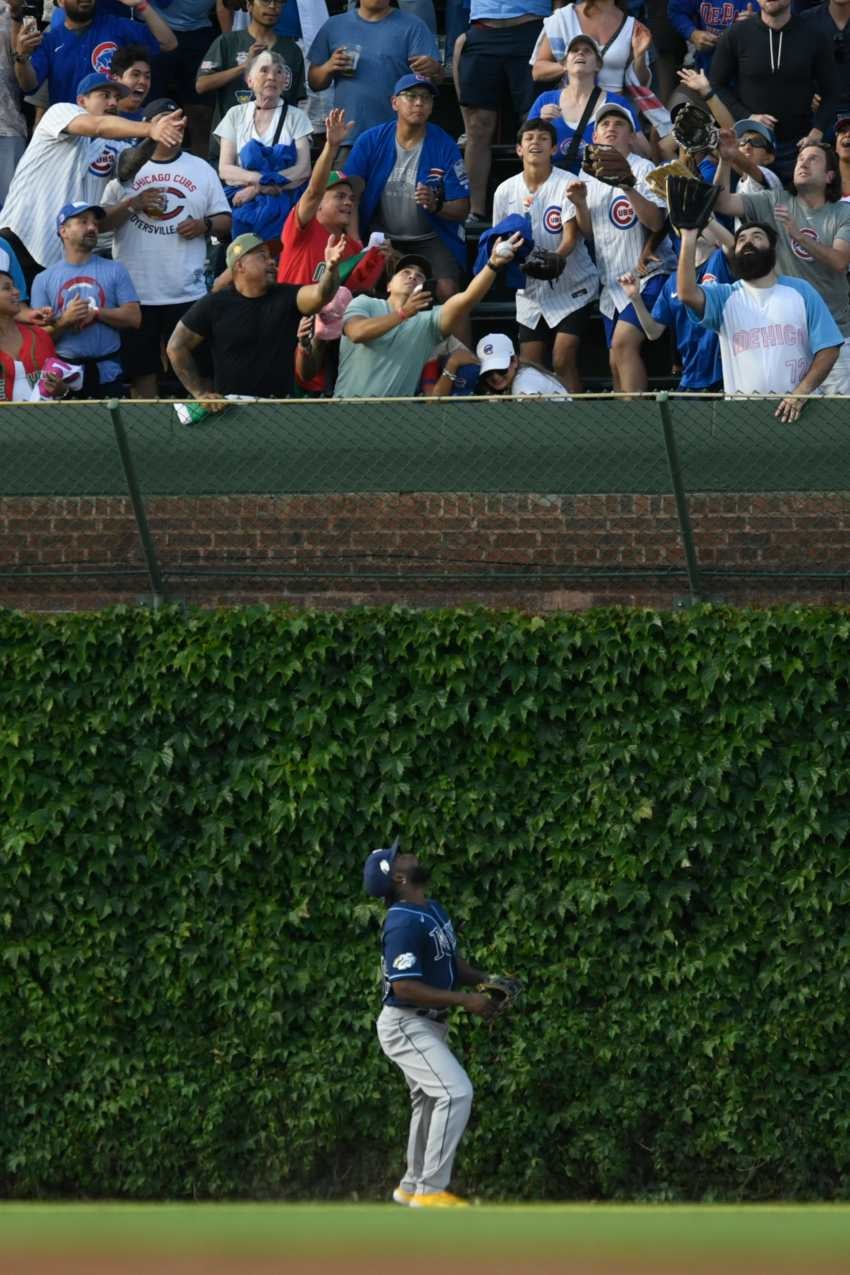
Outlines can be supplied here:
M37 274L32 284L32 305L51 306L54 314L61 314L65 306L80 297L94 301L98 310L112 310L127 301L138 301L127 268L120 261L94 254L83 265L57 261L48 270ZM62 333L56 342L56 353L74 362L75 358L102 358L103 354L119 354L121 333L104 323L93 323L82 332ZM98 363L101 385L117 381L122 376L120 358Z

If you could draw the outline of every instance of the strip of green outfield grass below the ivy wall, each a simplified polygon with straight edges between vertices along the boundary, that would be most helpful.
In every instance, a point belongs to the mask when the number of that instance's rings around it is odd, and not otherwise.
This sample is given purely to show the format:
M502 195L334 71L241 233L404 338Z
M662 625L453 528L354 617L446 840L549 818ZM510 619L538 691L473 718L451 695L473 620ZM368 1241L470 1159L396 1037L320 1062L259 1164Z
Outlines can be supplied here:
M418 1241L422 1241L419 1244ZM435 1258L664 1253L687 1261L799 1261L850 1270L850 1206L480 1205L422 1214L393 1205L0 1205L0 1257L27 1253Z

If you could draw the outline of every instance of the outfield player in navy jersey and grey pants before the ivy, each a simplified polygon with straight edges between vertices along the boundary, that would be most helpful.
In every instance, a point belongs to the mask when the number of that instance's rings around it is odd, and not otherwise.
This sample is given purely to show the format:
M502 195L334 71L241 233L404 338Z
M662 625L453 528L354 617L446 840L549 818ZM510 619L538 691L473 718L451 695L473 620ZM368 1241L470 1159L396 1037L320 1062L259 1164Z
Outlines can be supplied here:
M415 854L400 854L398 840L372 850L363 867L366 892L387 901L377 1035L401 1068L413 1107L408 1165L393 1198L413 1209L446 1209L466 1204L447 1187L473 1104L469 1076L446 1044L446 1019L452 1006L488 1019L494 1005L480 992L456 991L487 975L457 955L451 921L427 898L427 868Z

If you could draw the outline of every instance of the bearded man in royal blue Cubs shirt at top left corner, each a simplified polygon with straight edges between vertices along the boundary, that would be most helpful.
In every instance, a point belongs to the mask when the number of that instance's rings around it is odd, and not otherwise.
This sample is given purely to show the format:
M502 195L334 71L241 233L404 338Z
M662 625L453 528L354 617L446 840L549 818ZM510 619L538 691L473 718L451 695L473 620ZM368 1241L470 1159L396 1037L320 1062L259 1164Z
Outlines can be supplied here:
M148 0L122 0L127 17L98 13L96 0L64 0L65 19L43 34L38 29L18 28L15 38L15 76L24 93L32 93L45 80L50 105L73 102L76 85L92 71L110 71L112 55L121 45L141 42L152 54L175 48L177 38L168 23ZM138 22L130 22L134 13Z

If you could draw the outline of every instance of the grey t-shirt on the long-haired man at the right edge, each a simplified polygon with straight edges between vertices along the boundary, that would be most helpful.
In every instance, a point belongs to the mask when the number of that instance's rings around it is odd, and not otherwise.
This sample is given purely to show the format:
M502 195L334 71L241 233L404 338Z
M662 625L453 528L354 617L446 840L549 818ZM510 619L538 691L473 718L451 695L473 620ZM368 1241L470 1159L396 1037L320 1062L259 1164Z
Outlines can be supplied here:
M788 190L765 190L757 195L742 195L744 201L744 221L767 222L777 232L776 269L779 274L790 274L805 279L826 301L832 317L845 337L850 337L850 298L847 296L846 273L821 265L810 252L799 244L791 244L788 235L776 221L774 209L785 204L793 221L800 227L804 238L817 240L832 247L835 240L850 241L850 204L825 204L823 208L809 208L796 195Z

